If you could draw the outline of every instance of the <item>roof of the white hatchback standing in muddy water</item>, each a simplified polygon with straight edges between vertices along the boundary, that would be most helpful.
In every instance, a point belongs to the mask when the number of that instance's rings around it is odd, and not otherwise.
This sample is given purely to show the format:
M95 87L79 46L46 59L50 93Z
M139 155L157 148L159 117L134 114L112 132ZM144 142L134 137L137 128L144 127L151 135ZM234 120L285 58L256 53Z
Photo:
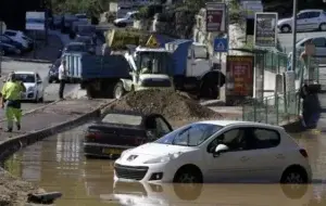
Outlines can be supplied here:
M222 127L227 127L227 126L252 126L252 127L266 127L266 128L274 128L274 129L280 129L281 127L275 126L275 125L268 125L268 124L263 124L263 123L254 123L254 121L240 121L240 120L204 120L204 121L199 121L202 124L210 124L210 125L217 125Z

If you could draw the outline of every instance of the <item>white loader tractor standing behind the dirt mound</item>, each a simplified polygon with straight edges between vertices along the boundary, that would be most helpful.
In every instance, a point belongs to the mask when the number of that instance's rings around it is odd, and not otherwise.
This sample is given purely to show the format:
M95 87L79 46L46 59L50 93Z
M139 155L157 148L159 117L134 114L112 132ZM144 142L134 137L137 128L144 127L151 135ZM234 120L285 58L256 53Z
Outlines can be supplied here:
M125 54L131 70L131 79L121 79L116 85L114 95L116 99L129 91L143 89L173 89L170 77L170 53L164 48L136 48L136 51Z

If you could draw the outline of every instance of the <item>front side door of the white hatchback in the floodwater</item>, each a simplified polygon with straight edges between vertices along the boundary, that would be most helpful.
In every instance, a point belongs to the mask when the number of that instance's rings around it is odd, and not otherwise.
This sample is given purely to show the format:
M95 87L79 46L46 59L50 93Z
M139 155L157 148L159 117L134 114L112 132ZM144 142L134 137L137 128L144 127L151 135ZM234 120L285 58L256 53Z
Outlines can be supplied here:
M250 167L246 156L247 128L234 128L216 137L204 151L206 170L204 179L208 182L239 182L246 179ZM229 150L218 156L213 151L218 144L225 144Z

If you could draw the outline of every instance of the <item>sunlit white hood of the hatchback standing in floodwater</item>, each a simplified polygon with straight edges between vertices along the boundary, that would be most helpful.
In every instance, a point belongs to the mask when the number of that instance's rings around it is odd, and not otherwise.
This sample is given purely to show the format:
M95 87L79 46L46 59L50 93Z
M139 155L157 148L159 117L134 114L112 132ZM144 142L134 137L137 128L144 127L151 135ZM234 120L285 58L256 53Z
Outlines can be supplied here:
M171 145L171 144L160 144L160 143L147 143L136 149L130 149L121 158L122 162L126 164L138 164L146 160L150 160L156 157L163 157L172 154L183 154L192 151L197 151L197 147ZM131 163L128 157L135 155L137 156Z

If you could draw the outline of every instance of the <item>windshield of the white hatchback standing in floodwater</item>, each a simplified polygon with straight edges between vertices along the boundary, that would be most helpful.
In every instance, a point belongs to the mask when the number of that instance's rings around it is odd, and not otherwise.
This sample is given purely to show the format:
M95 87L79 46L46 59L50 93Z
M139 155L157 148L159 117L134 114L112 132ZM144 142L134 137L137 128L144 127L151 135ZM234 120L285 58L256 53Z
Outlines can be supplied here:
M160 138L155 143L181 146L198 146L223 127L213 124L197 123L181 127Z

